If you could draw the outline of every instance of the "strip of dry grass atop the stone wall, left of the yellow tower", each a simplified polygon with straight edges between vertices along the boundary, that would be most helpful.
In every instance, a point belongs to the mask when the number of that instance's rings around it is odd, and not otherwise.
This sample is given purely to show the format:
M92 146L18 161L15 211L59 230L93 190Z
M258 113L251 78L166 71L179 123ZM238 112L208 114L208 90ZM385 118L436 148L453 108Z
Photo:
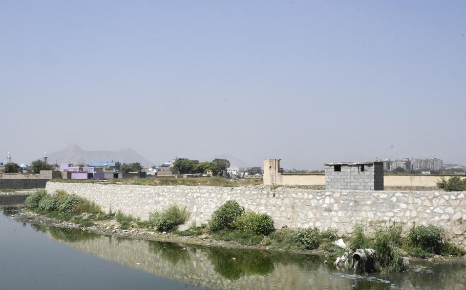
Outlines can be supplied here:
M262 185L262 179L240 179L230 180L224 177L201 177L201 178L135 178L135 179L52 179L52 182L65 183L96 183L96 184L125 184L125 185L187 185L187 186L220 186L220 187L238 187L245 185Z

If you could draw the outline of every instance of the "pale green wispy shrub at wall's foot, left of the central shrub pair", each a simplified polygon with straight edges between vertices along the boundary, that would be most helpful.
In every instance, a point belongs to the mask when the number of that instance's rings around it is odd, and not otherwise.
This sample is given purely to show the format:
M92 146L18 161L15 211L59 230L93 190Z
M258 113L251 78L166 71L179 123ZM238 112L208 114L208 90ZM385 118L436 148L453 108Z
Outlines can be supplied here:
M186 223L189 212L186 207L180 209L178 205L172 205L163 212L154 211L149 216L149 222L160 232L171 231L174 227Z

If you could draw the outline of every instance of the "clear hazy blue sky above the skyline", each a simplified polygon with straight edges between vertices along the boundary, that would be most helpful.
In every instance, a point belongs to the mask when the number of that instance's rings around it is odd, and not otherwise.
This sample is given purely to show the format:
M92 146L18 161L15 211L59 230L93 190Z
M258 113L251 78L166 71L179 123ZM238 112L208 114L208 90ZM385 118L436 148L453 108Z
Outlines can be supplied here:
M0 37L0 161L466 165L465 1L12 0Z

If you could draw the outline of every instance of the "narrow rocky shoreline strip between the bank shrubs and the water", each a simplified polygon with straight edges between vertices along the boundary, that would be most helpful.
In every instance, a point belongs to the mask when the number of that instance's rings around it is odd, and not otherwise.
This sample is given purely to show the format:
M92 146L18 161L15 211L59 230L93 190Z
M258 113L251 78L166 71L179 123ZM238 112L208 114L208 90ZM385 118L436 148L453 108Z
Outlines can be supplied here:
M199 236L179 236L173 233L160 233L155 230L149 230L144 228L132 228L132 229L120 229L118 227L118 222L116 220L105 220L105 221L94 221L95 225L90 227L84 227L79 224L70 222L70 221L61 221L54 218L49 218L40 213L26 209L23 205L14 206L16 212L12 214L12 218L17 222L29 223L29 224L38 224L43 226L59 227L59 228L70 228L81 231L92 232L104 236L114 236L122 238L131 238L137 240L151 240L151 241L160 241L166 243L178 243L178 244L187 244L187 245L198 245L204 247L219 247L227 249L249 249L249 250L259 250L259 251L273 251L273 252L282 252L282 253L293 253L293 254L302 254L302 255L318 255L324 257L326 251L324 250L283 250L280 248L270 248L268 246L246 246L241 245L236 242L216 240L208 234L201 234ZM83 216L86 216L84 214ZM413 262L462 262L466 263L466 255L464 256L439 256L435 255L430 258L419 258L419 257L409 257ZM325 261L326 262L326 261ZM329 265L333 263L328 263Z

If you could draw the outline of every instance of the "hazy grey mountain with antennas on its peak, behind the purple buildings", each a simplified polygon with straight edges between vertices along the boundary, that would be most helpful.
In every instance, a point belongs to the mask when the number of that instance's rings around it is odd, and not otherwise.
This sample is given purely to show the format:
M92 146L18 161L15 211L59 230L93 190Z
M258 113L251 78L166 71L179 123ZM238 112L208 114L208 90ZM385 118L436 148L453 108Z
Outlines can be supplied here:
M101 162L114 161L120 163L139 162L144 167L153 166L153 163L133 149L125 149L121 151L87 151L79 146L71 145L60 151L48 153L49 163L86 163L86 162Z

